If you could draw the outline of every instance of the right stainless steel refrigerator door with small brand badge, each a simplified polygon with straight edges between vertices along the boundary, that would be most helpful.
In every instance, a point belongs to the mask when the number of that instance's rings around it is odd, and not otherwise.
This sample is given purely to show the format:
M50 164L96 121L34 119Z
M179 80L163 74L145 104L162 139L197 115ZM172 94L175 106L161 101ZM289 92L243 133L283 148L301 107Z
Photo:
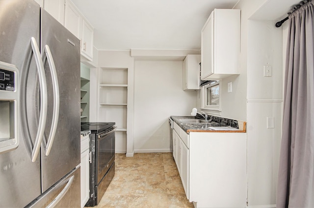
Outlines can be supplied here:
M48 91L47 123L41 148L42 189L46 191L80 163L80 54L78 38L45 10L42 10L41 28L41 52ZM54 97L57 95L53 96L56 89L45 54L46 45L54 60L59 88L59 119L48 156L47 142L56 116Z

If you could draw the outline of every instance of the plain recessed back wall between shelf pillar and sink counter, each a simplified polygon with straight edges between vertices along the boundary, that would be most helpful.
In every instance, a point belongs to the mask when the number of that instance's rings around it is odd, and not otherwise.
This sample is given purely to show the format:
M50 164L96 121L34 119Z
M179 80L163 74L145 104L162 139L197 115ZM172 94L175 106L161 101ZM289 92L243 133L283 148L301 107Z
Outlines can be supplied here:
M135 61L134 152L170 152L171 115L189 115L196 91L183 91L183 61Z

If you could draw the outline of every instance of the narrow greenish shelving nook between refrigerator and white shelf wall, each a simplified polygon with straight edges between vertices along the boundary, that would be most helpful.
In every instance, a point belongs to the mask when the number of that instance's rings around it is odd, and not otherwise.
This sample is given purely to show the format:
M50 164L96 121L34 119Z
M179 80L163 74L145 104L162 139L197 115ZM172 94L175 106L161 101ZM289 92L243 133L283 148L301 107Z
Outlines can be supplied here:
M90 72L89 67L80 64L80 121L89 122L89 87Z

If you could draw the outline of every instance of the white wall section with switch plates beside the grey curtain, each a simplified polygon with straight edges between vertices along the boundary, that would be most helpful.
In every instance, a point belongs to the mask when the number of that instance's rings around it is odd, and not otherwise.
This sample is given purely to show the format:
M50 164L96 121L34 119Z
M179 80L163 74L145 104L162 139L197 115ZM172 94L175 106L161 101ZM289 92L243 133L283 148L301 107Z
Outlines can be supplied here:
M266 1L264 1L266 2ZM248 207L276 207L282 126L283 32L274 20L249 20L262 14L263 1L241 0L241 65L247 66ZM270 2L268 0L267 2ZM267 19L267 12L264 11ZM253 15L253 16L252 16ZM244 36L244 37L243 37ZM272 77L263 66L272 66ZM267 117L273 127L267 128Z

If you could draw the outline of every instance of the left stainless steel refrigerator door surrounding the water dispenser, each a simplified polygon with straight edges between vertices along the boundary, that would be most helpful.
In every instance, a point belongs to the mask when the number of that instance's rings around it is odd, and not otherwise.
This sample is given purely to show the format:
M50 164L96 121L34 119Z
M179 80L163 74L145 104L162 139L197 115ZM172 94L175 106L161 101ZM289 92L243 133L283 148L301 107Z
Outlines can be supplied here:
M20 131L20 144L15 150L0 154L0 208L25 207L41 194L40 158L31 161L32 144L38 129L36 89L39 85L31 37L39 44L39 5L32 0L0 0L0 26L0 61L18 68L19 85L26 77L32 78L31 84L27 85L31 92L26 96L29 107L23 112L28 118L18 118L20 129L27 129L25 122L29 122L29 130ZM25 89L20 89L22 97Z

